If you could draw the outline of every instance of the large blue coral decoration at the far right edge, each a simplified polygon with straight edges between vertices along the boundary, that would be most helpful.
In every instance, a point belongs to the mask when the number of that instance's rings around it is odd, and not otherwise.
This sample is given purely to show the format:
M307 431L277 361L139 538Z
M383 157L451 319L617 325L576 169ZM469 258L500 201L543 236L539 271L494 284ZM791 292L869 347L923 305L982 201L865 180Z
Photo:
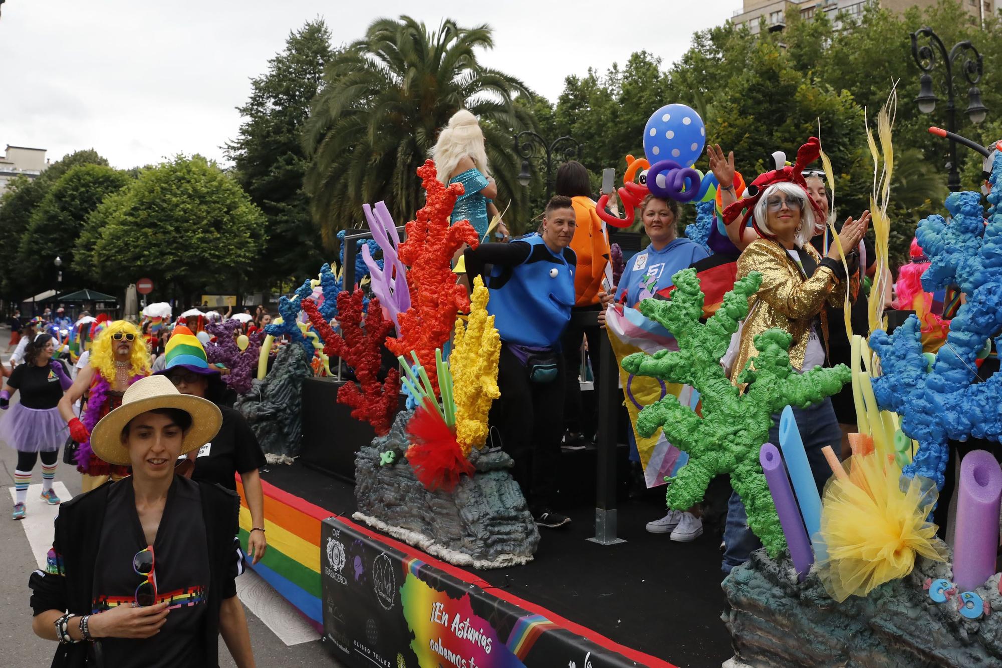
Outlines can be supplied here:
M1002 176L996 160L991 181ZM947 222L930 215L919 222L916 237L930 259L922 286L933 291L958 285L966 302L950 323L946 345L928 365L922 353L921 324L909 317L894 333L877 329L870 345L880 356L883 376L874 394L884 410L901 416L902 431L919 443L906 477L922 476L943 488L950 440L1002 437L1002 375L980 383L978 353L1002 329L1002 193L993 187L987 224L978 192L954 192L946 199ZM1002 336L995 339L996 350Z

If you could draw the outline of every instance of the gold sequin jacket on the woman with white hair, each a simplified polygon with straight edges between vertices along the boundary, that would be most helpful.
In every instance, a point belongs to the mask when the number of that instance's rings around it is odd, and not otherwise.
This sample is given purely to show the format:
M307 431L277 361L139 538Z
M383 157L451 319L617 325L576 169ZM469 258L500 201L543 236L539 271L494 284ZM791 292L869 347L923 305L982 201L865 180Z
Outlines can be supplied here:
M821 255L810 243L799 248L800 254L807 253L814 258L818 268L805 279L800 267L787 249L770 239L756 239L737 258L737 277L742 278L749 271L763 274L759 291L748 297L748 316L741 328L737 357L730 368L731 382L736 383L737 375L744 369L749 358L757 357L755 338L766 329L780 327L793 336L790 346L790 364L795 369L804 367L804 353L807 351L811 333L811 323L821 318L821 336L828 355L828 317L825 306L841 306L845 302L847 281L843 279L845 269L839 261L822 262ZM848 287L853 300L859 290L859 272L855 272Z

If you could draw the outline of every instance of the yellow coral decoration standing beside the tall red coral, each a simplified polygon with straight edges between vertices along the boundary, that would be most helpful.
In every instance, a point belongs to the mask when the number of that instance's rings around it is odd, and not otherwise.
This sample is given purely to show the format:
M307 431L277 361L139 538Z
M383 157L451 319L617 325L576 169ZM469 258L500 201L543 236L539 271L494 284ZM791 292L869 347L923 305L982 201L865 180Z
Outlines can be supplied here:
M501 338L494 316L487 314L488 290L480 276L473 279L473 296L466 326L456 319L456 336L449 368L452 370L456 403L456 441L463 455L487 442L487 413L501 396L498 390L498 359Z

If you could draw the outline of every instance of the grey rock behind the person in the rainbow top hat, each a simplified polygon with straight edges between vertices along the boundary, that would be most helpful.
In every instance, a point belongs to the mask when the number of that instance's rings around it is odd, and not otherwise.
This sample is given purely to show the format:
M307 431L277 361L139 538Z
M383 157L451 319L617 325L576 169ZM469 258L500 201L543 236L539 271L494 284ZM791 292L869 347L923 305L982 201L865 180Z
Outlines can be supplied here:
M270 463L295 457L303 446L303 380L313 376L302 346L283 346L264 381L236 400Z

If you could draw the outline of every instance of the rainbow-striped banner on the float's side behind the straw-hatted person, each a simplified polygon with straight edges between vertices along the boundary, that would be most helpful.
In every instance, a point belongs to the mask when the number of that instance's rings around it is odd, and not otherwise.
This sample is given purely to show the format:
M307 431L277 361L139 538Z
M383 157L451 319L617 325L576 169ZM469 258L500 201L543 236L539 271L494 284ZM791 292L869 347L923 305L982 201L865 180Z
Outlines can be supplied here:
M300 611L321 634L324 608L321 604L321 522L331 513L262 481L265 493L265 531L268 550L256 566L247 566ZM236 477L240 495L240 545L246 552L250 510L243 485Z

